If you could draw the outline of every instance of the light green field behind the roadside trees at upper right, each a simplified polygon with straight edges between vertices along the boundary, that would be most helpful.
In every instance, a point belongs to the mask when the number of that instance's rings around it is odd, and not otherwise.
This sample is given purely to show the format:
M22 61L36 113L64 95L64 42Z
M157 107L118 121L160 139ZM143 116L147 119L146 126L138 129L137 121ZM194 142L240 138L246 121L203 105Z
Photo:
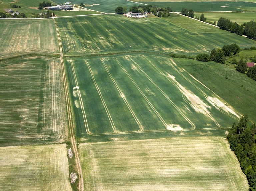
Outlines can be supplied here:
M243 13L195 13L195 16L200 17L201 14L207 18L207 21L216 21L216 24L220 17L230 19L230 21L237 22L239 25L244 24L245 22L250 22L251 20L256 19L256 12L243 12Z

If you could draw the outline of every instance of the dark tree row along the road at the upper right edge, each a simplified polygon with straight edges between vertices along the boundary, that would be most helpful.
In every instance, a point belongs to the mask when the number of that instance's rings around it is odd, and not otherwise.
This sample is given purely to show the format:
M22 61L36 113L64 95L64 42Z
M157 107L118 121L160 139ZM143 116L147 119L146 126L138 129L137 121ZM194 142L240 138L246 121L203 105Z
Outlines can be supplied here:
M221 17L217 22L217 26L231 33L246 35L248 38L256 40L256 22L254 21L239 25L236 22L230 21L230 19Z

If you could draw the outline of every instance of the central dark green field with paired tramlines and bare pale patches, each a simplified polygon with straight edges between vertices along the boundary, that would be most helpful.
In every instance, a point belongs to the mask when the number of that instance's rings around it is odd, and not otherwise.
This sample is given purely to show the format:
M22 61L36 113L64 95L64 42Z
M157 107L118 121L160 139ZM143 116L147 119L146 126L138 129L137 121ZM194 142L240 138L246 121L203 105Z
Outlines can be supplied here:
M229 128L240 117L170 57L72 59L66 67L81 137Z

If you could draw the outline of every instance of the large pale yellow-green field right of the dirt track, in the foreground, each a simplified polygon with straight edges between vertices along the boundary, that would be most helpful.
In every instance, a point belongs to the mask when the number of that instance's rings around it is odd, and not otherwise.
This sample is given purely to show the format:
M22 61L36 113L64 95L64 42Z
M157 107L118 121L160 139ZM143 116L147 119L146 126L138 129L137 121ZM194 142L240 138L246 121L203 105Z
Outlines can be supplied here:
M85 143L79 153L85 190L248 190L220 137Z

